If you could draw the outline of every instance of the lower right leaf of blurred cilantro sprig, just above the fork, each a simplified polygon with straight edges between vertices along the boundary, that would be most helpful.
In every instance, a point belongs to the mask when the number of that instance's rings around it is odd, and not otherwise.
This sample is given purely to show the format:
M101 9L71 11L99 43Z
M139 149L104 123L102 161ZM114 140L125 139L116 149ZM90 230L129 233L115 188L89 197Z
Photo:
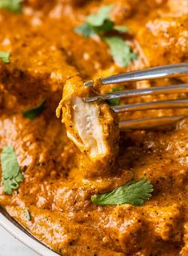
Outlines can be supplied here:
M137 58L137 55L131 51L130 46L122 38L115 36L104 38L104 41L108 43L112 57L117 65L126 67L132 60Z

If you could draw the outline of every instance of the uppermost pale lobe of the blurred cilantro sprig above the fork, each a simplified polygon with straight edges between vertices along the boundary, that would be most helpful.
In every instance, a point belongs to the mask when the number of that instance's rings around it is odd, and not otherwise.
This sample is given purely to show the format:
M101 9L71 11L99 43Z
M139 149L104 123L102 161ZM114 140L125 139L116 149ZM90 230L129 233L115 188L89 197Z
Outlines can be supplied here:
M91 14L87 18L87 23L91 26L103 26L104 22L109 19L109 13L113 5L103 6L96 14Z

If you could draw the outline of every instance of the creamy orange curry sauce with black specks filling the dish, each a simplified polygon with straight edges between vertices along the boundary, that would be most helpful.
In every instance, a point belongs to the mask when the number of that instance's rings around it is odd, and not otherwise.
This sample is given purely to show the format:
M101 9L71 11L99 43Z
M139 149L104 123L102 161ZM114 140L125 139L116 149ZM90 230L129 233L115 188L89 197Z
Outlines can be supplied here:
M129 27L123 38L138 54L127 68L116 66L100 38L74 32L88 14L110 4L114 4L112 20ZM121 132L112 173L85 178L79 171L76 147L55 114L69 78L87 80L187 62L187 0L27 0L22 9L22 14L0 10L0 51L11 54L9 64L0 62L0 148L14 148L24 174L12 195L0 187L0 204L33 236L62 255L188 255L188 121L166 130ZM134 82L123 88L175 82L181 81ZM104 87L104 91L111 89ZM177 97L185 95L128 102ZM41 116L33 120L22 116L44 98ZM187 114L187 110L150 110L121 118L177 113ZM143 206L91 202L92 194L114 190L131 178L147 178L154 186Z

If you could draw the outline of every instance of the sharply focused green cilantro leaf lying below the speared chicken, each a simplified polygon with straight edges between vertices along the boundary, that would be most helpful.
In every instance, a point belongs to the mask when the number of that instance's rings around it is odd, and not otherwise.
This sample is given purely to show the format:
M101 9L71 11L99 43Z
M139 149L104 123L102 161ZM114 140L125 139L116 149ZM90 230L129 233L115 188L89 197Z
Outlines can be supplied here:
M124 203L133 206L142 206L151 198L153 186L147 179L139 182L127 182L107 194L92 195L91 200L96 205L122 205Z

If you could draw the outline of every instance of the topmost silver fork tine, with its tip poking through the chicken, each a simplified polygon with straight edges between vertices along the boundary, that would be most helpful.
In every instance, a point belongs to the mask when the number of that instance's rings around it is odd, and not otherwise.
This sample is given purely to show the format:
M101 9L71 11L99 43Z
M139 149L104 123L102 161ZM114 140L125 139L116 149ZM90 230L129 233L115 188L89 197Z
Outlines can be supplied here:
M107 78L101 78L102 85L120 82L133 82L140 80L151 80L157 78L172 78L188 75L188 63L156 66L145 70L136 70L123 74L115 74ZM84 82L84 86L93 86L93 80Z

